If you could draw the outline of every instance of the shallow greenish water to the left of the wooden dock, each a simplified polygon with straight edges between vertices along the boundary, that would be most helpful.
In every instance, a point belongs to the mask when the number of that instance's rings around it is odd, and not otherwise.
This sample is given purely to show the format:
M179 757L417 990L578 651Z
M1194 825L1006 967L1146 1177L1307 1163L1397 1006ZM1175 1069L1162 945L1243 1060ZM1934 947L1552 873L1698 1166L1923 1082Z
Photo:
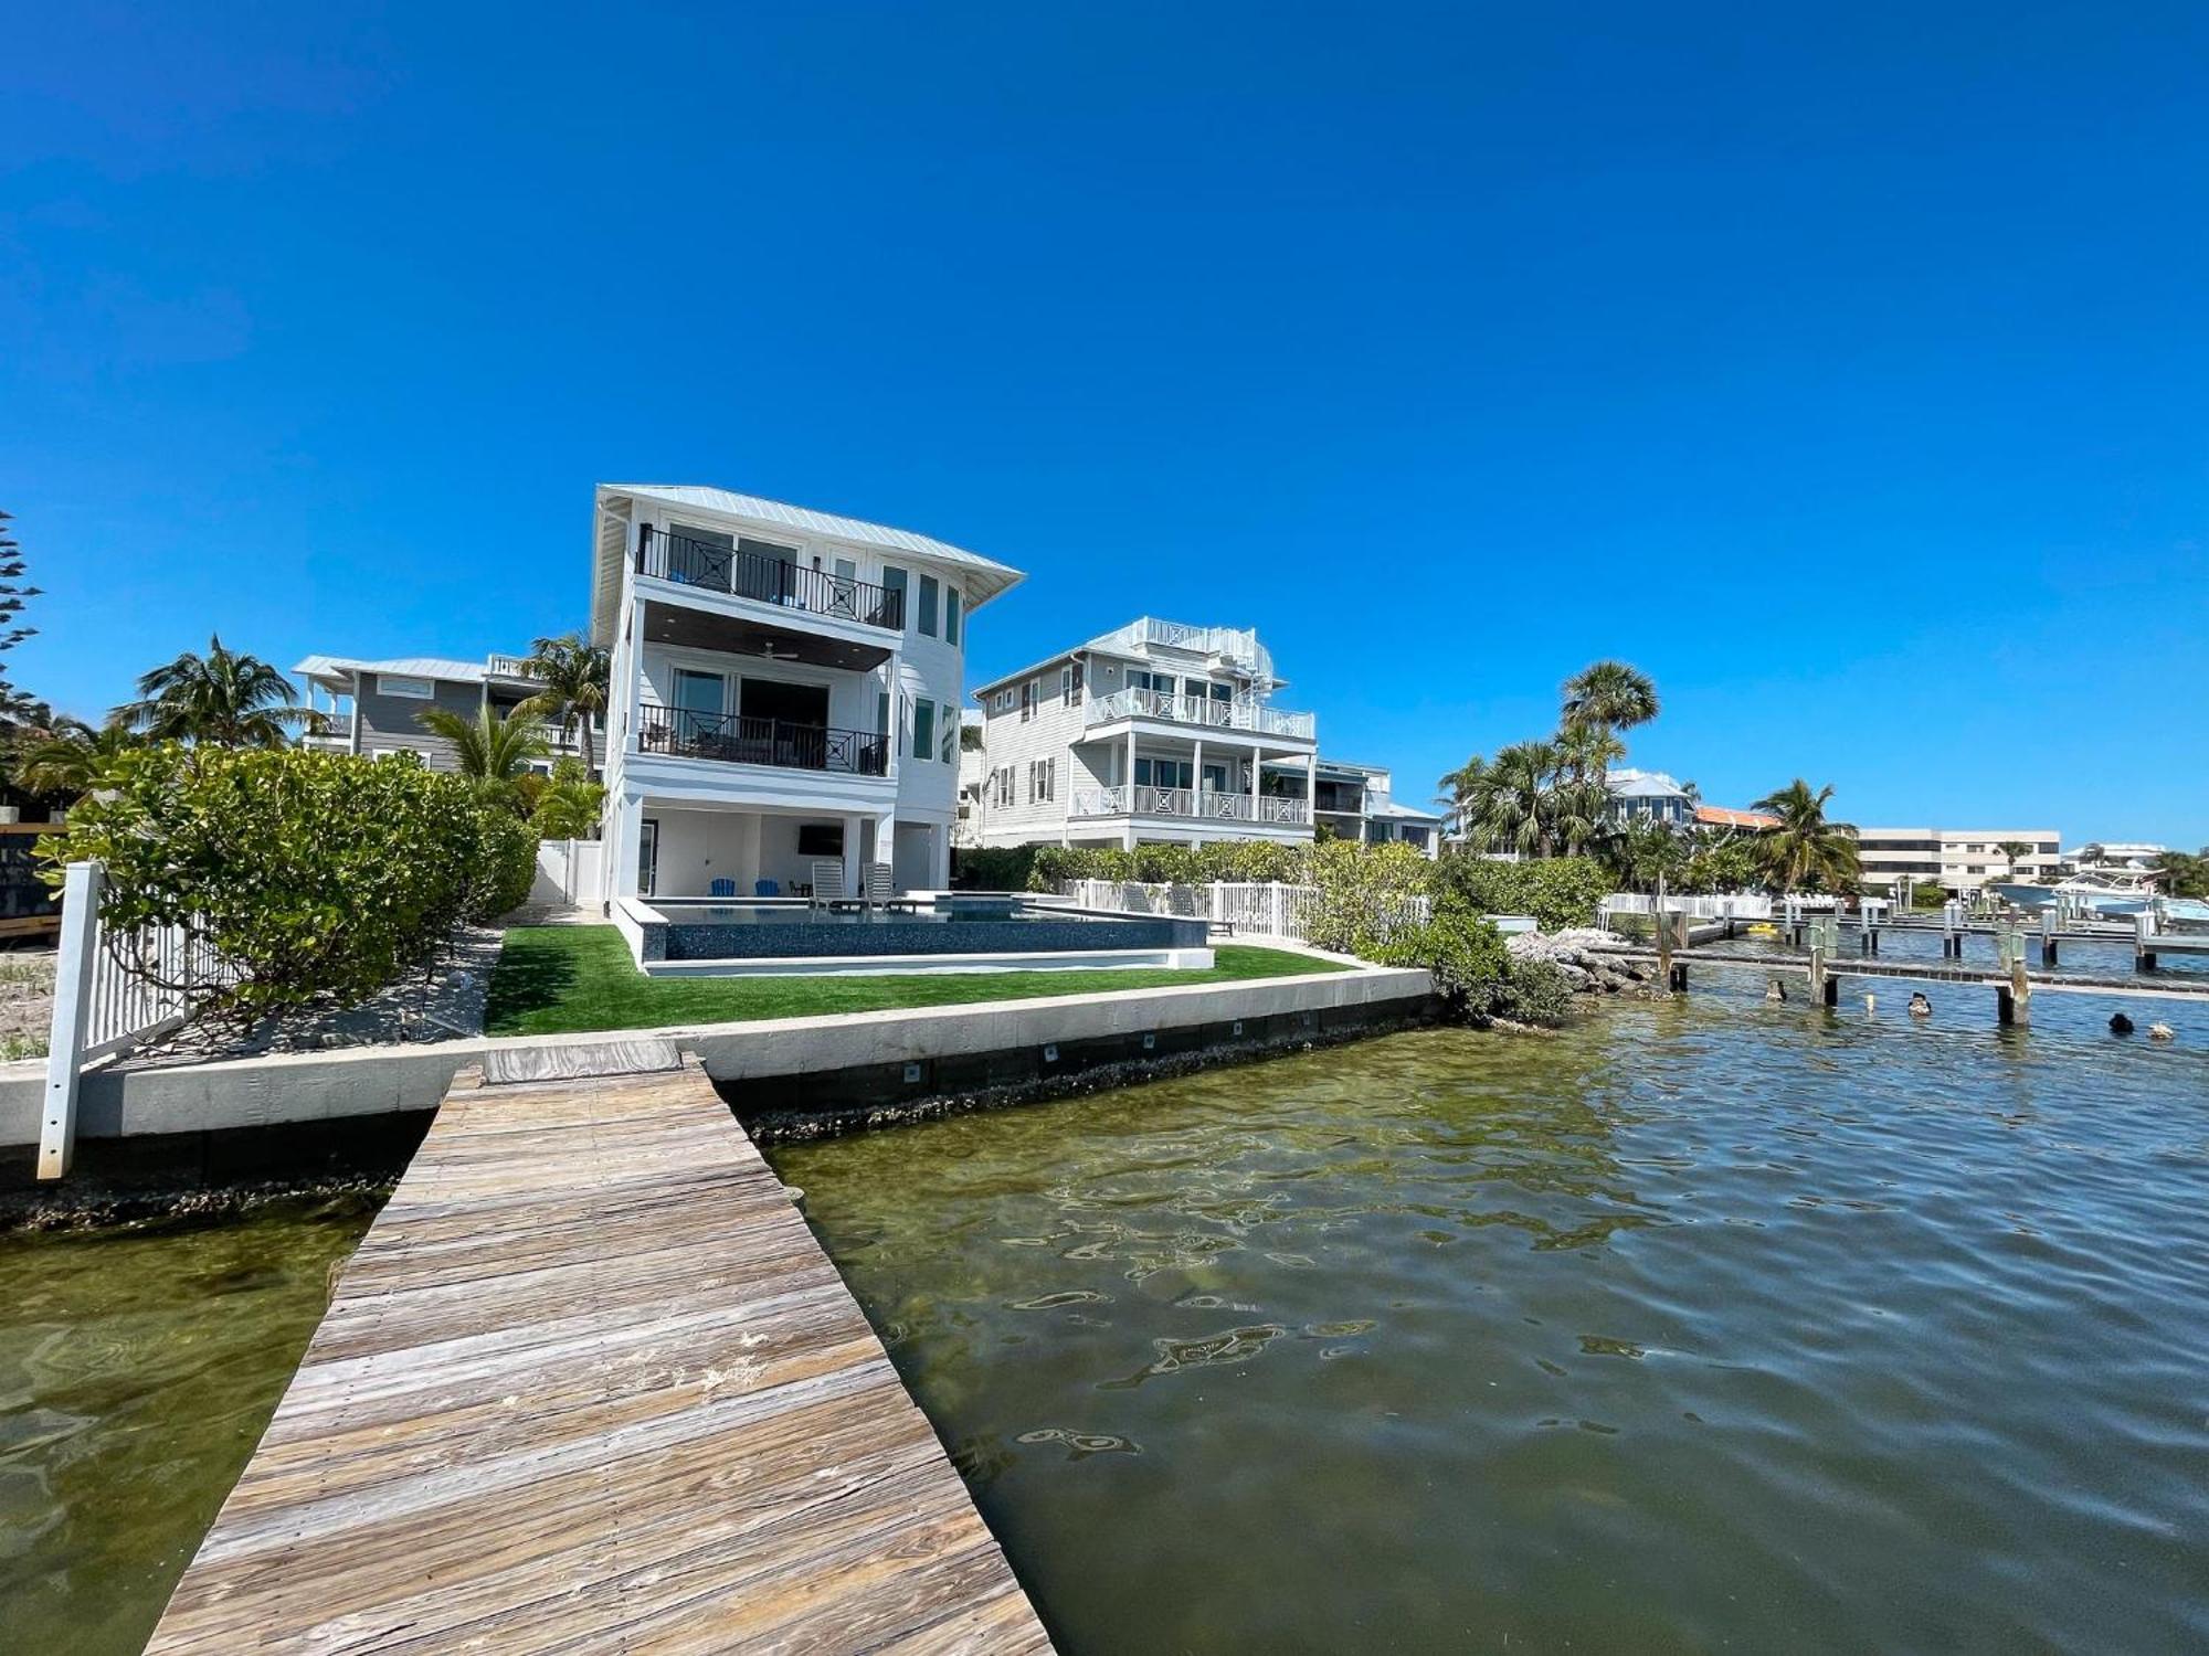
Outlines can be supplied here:
M0 1239L0 1645L146 1643L371 1214Z

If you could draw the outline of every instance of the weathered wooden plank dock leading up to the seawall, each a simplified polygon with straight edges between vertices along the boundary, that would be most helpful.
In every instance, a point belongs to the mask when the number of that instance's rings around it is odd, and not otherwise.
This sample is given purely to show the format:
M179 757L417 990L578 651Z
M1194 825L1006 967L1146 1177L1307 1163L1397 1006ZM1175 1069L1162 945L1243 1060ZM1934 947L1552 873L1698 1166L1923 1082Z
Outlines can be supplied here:
M705 1073L579 1051L455 1082L148 1652L1049 1652Z

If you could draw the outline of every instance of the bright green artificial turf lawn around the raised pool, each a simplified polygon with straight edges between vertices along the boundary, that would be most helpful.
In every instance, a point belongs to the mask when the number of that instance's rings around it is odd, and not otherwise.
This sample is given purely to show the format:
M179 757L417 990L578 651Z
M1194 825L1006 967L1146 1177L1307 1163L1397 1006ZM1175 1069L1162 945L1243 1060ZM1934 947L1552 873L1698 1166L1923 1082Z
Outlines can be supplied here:
M1341 972L1288 949L1226 943L1211 972L1096 967L1076 972L934 972L870 978L647 978L612 925L517 925L490 974L484 1031L563 1036L577 1029L658 1029L833 1011L954 1007L976 1000L1111 994L1182 983L1237 983Z

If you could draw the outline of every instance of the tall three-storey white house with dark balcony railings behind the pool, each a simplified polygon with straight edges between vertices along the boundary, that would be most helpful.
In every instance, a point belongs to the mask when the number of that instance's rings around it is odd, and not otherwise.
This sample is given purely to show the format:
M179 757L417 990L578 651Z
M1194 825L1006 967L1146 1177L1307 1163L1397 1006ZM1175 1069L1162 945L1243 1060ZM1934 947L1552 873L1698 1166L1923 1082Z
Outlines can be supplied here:
M601 484L607 899L950 883L970 616L1021 574L722 488Z

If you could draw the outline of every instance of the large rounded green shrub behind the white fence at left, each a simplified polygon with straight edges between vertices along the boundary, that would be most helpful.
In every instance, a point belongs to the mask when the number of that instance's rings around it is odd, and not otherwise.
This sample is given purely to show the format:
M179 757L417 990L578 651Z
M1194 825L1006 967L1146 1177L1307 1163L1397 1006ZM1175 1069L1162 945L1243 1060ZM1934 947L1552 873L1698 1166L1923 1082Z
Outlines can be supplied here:
M364 1000L528 899L537 868L526 821L413 755L163 744L104 782L46 841L46 877L97 857L110 927L190 925L241 974L194 1013L216 1022Z

